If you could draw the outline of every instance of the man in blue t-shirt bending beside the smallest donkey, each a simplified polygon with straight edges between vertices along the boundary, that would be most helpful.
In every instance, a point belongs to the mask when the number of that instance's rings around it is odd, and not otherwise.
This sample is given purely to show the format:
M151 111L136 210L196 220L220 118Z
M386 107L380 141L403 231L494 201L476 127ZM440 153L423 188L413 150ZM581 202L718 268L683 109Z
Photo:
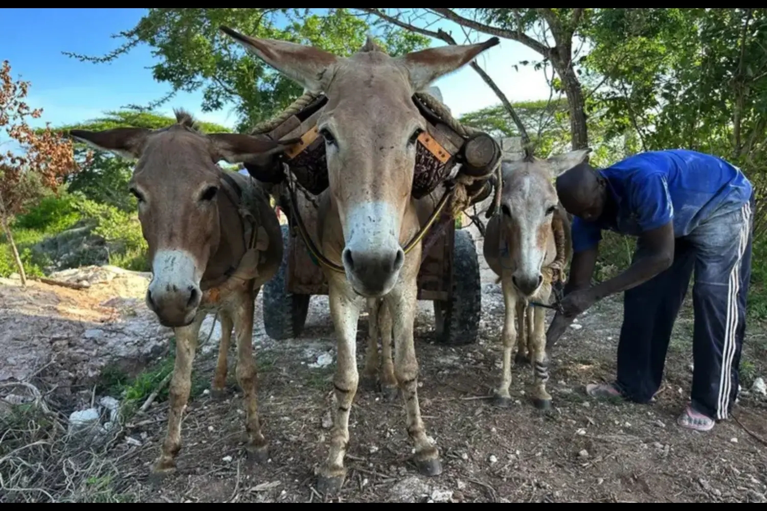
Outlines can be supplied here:
M751 273L751 183L722 159L674 149L640 153L602 170L582 163L558 177L557 193L574 215L574 254L563 312L549 330L561 330L597 300L625 291L617 380L586 391L652 400L694 269L693 388L677 423L709 431L729 416L738 391ZM603 229L637 236L637 251L622 274L590 287Z

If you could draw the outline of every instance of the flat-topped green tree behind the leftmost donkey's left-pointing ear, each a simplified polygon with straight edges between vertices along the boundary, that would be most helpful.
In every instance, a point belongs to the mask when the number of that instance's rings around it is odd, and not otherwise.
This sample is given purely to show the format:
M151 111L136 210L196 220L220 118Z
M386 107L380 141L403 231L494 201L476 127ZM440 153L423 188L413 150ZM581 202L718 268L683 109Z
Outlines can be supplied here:
M104 117L87 120L71 126L61 126L61 132L70 129L101 131L121 127L158 129L170 126L176 119L158 113L140 110L119 110L105 113ZM215 123L199 122L206 133L229 132L229 128ZM136 211L137 201L128 192L128 181L133 175L135 162L114 156L111 152L94 150L84 143L74 143L74 157L81 162L81 170L68 176L67 190L82 192L85 197L100 204L114 206L121 211Z

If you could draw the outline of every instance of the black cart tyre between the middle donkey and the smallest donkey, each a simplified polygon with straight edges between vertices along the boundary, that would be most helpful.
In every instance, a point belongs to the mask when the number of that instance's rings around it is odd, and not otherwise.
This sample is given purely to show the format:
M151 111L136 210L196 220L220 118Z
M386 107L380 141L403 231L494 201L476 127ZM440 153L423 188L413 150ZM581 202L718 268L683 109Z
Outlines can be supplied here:
M482 313L479 256L469 231L457 230L453 248L453 300L434 300L436 342L450 346L477 340Z

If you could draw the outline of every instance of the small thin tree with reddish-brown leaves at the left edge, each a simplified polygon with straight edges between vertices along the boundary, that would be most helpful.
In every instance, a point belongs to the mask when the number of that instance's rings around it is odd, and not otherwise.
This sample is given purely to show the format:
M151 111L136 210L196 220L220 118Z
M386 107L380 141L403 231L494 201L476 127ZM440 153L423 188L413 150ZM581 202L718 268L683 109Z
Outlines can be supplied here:
M8 150L0 152L0 223L21 276L21 285L27 285L24 265L11 232L12 217L25 208L44 190L57 191L64 177L75 172L71 141L54 133L46 124L42 130L32 129L28 118L38 119L42 109L31 109L25 102L30 83L13 80L11 64L3 61L0 67L0 129L18 143L24 154Z

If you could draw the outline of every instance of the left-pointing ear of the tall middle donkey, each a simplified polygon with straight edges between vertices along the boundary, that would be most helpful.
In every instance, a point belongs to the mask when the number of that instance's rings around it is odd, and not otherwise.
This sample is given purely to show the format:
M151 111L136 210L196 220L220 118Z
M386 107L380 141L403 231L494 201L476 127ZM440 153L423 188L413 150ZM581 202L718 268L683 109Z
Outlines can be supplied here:
M328 86L333 77L331 68L344 60L343 57L312 46L275 39L251 38L224 25L221 25L219 30L312 93L320 93Z

